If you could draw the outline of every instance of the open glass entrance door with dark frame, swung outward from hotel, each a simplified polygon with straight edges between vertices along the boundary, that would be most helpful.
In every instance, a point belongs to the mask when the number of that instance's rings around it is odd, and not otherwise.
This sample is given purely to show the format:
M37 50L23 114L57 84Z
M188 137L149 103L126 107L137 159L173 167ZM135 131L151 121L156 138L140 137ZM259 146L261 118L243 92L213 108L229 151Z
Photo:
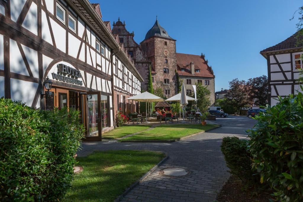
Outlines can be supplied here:
M84 141L101 141L101 101L100 92L87 92L86 99L86 134Z

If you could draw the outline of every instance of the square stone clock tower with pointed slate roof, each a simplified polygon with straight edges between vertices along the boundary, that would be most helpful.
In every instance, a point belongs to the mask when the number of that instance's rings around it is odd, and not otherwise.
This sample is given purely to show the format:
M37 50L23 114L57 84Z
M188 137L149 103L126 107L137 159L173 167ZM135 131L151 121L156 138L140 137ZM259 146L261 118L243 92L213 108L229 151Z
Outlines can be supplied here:
M163 89L167 98L177 94L175 74L177 67L176 40L168 35L156 19L154 26L146 33L145 39L140 45L151 61L154 89Z

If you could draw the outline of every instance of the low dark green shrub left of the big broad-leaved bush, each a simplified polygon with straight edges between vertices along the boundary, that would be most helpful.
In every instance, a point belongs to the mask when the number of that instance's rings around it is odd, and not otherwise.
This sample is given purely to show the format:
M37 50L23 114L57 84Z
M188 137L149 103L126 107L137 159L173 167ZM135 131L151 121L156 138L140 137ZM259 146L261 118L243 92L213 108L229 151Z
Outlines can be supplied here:
M251 169L251 155L247 151L247 141L240 140L238 137L224 137L221 144L221 151L230 173L239 177L248 186L258 182Z

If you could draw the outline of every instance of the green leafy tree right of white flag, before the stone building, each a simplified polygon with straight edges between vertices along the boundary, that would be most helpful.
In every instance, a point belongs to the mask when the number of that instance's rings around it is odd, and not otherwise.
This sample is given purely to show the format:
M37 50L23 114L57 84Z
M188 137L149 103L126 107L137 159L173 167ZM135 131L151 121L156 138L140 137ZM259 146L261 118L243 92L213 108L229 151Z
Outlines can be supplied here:
M197 88L197 107L201 112L206 112L210 106L210 91L202 83L196 83Z

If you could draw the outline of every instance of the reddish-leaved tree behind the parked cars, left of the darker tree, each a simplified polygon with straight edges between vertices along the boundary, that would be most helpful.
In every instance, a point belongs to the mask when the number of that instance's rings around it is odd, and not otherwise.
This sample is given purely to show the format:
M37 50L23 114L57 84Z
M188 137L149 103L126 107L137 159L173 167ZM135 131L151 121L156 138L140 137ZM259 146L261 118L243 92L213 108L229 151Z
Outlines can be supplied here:
M229 82L229 90L225 94L227 101L233 102L237 111L242 107L248 107L252 104L250 96L251 86L246 81L239 81L238 78Z

